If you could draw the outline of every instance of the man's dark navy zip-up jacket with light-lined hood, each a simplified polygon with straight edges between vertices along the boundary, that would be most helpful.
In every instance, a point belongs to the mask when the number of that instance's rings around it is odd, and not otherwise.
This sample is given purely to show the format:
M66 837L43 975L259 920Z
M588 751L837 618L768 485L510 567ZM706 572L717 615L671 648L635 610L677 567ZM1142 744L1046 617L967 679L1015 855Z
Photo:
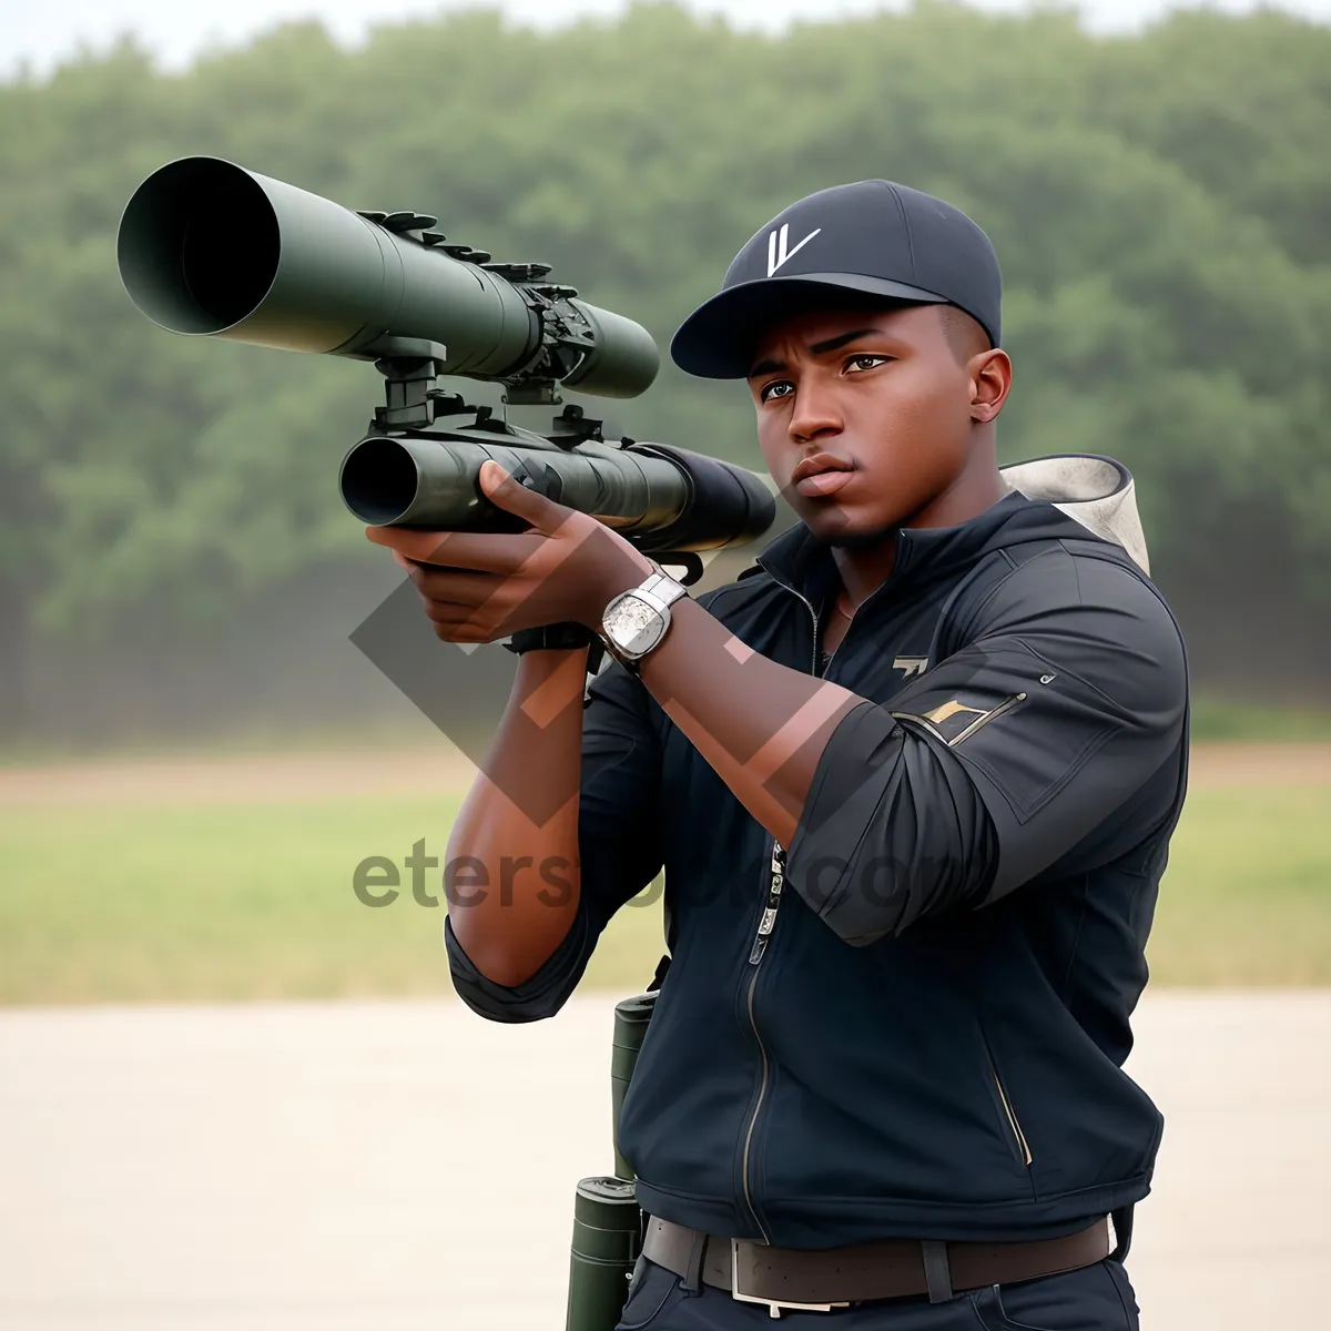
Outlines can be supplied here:
M620 1119L652 1214L788 1247L1013 1239L1149 1191L1162 1118L1121 1069L1183 800L1182 640L1117 463L1005 475L972 522L904 531L856 612L827 677L869 701L788 856L612 666L584 716L563 944L507 989L446 924L471 1008L550 1017L664 866L673 962ZM700 599L815 672L832 578L799 524Z

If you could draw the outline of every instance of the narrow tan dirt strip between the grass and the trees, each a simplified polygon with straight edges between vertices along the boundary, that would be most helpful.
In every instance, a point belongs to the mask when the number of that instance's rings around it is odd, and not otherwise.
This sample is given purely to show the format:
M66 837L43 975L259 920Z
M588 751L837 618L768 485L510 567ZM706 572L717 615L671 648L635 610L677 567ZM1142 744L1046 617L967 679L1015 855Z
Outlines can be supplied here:
M475 767L447 741L355 752L101 759L0 768L0 808L214 804L466 791ZM1331 783L1331 744L1197 744L1190 784Z

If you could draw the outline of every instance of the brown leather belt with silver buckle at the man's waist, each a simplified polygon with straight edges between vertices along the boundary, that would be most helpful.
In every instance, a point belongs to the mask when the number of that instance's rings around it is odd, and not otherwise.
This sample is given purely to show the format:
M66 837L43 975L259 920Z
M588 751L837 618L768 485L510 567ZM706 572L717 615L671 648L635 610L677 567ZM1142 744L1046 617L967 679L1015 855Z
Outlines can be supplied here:
M1093 1266L1109 1256L1109 1221L1077 1234L1020 1243L942 1243L874 1239L836 1248L777 1248L704 1234L648 1217L643 1255L743 1303L827 1312L852 1303L928 1294L938 1303L962 1290L1033 1280Z

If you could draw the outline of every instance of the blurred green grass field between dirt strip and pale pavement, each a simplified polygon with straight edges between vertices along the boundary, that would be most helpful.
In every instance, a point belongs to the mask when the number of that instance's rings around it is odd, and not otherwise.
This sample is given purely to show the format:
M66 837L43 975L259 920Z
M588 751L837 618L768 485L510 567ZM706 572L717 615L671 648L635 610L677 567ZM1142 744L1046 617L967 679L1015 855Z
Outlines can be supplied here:
M403 890L371 909L351 877L422 839L442 857L457 805L0 808L0 1002L447 990L442 905ZM1331 984L1328 829L1331 784L1194 789L1161 890L1155 982ZM638 992L659 954L660 908L626 908L584 984Z

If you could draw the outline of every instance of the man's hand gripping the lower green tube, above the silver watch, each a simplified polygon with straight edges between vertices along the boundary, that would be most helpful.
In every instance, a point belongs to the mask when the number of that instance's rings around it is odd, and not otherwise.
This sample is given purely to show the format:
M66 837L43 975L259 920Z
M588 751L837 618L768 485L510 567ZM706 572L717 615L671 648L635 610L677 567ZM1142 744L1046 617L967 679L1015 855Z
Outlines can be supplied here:
M479 479L486 498L527 522L527 531L366 527L366 536L407 570L437 638L491 643L570 620L599 630L611 598L654 571L618 532L524 488L499 463L483 463Z

